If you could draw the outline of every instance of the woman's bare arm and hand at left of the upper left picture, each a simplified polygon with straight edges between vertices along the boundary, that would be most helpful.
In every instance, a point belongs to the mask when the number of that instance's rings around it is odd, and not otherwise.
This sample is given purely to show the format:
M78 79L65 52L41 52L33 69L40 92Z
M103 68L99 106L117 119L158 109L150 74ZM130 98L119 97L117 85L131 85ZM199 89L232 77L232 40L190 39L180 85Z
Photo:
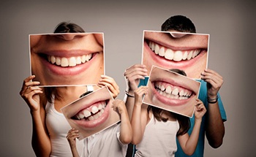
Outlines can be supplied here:
M32 75L23 81L20 96L22 96L30 108L33 123L31 144L34 153L37 156L50 156L51 146L45 126L45 109L41 105L39 97L39 94L42 93L42 89L35 86L39 85L39 82L31 81L34 77L35 76Z

